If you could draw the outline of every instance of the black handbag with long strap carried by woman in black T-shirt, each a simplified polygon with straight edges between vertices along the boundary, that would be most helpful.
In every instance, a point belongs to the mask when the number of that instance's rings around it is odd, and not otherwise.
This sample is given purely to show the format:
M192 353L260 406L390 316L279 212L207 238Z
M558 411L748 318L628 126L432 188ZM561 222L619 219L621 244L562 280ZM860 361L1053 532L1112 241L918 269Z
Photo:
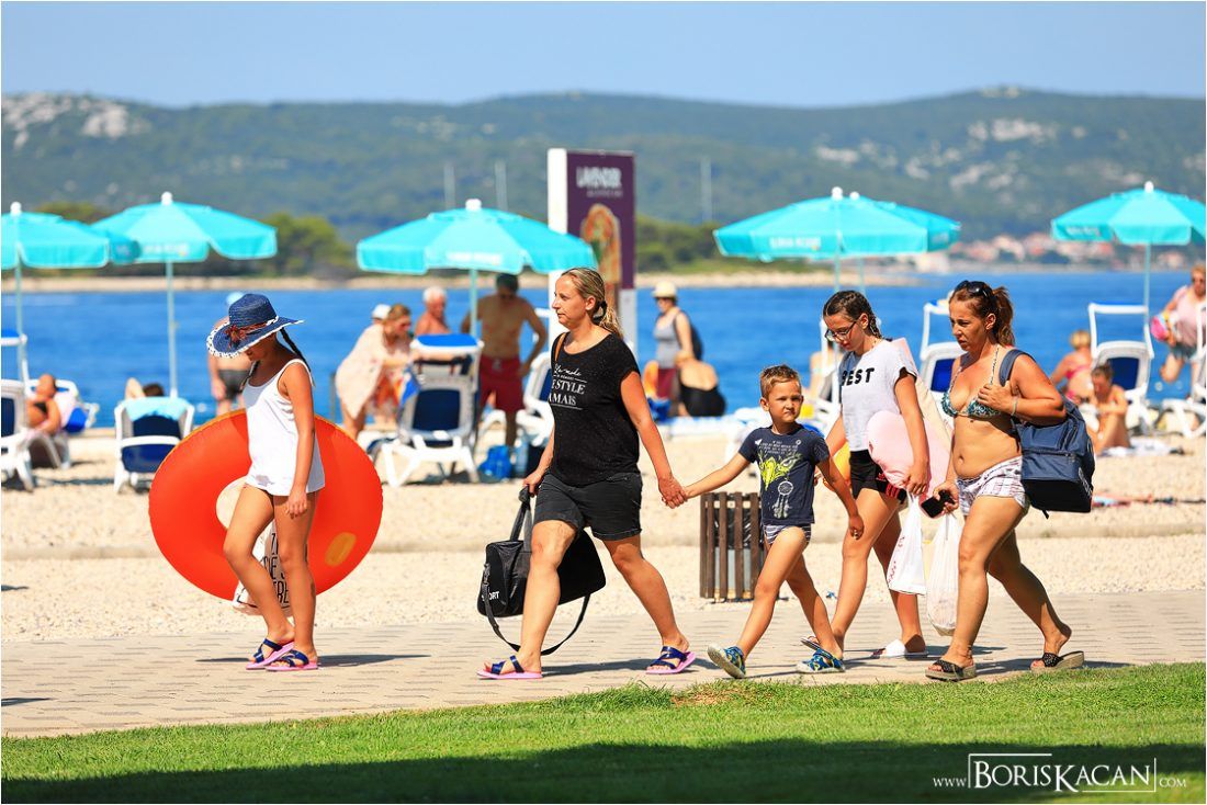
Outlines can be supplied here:
M495 618L511 618L524 613L524 590L527 585L529 560L532 556L532 504L526 486L520 488L520 508L515 513L512 536L502 542L486 546L486 564L482 570L482 587L478 591L478 612L486 616L490 628L498 638L514 649L519 646L503 637ZM570 634L560 643L541 652L552 654L575 636L587 616L587 603L591 593L604 589L604 566L591 538L579 530L558 566L561 595L558 603L583 600L583 608Z

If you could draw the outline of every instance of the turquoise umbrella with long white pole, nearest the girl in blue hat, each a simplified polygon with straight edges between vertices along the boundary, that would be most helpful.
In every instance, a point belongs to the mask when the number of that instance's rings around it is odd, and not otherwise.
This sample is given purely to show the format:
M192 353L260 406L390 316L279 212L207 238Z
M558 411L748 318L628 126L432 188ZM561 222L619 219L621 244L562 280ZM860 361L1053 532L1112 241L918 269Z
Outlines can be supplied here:
M168 372L176 396L176 313L171 290L174 263L198 263L212 249L229 259L257 259L276 253L276 229L233 212L199 204L177 204L164 193L159 204L132 206L93 224L119 233L139 245L139 263L163 263L168 278Z

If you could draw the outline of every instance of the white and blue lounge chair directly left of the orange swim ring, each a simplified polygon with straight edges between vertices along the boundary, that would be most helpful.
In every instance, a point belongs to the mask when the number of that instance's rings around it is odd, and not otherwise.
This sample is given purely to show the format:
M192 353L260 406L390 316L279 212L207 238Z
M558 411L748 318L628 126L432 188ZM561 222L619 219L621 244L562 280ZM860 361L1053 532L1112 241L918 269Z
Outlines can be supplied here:
M126 399L113 409L113 491L138 490L193 428L193 406L180 397Z

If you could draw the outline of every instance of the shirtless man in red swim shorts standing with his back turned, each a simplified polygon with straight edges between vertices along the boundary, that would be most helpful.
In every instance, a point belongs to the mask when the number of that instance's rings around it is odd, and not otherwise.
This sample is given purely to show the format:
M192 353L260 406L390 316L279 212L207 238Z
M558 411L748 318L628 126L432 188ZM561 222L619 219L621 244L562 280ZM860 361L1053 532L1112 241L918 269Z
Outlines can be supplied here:
M519 296L519 280L512 274L500 274L495 293L478 301L482 322L482 369L479 373L478 404L490 402L507 418L505 444L515 444L515 414L524 409L524 377L532 361L544 349L548 332L544 322L527 299ZM524 322L536 333L529 356L520 361L520 331ZM470 315L461 321L461 332L470 332ZM478 412L482 414L480 409Z

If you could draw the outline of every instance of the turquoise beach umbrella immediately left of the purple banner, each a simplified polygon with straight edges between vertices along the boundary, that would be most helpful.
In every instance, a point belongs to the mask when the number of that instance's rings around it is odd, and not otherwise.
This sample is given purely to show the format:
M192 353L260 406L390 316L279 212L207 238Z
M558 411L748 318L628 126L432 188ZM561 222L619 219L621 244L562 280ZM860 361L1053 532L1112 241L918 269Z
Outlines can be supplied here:
M470 272L470 321L478 327L478 272L540 274L594 268L595 253L582 239L538 221L491 210L471 198L463 210L432 212L356 244L356 264L368 272L425 274L433 268Z

